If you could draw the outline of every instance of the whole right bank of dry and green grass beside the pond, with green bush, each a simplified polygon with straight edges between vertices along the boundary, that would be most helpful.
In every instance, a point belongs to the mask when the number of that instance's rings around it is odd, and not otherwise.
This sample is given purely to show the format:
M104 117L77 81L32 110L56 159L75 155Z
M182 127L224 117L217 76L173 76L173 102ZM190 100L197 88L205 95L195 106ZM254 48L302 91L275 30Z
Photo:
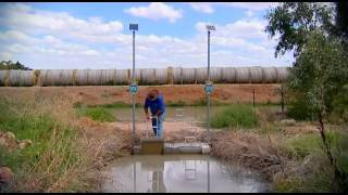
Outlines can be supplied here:
M214 116L212 123L224 131L213 133L212 154L260 171L272 192L338 192L347 185L335 181L315 126L283 123L274 112L238 105ZM328 125L327 138L339 169L348 172L348 133L338 127Z

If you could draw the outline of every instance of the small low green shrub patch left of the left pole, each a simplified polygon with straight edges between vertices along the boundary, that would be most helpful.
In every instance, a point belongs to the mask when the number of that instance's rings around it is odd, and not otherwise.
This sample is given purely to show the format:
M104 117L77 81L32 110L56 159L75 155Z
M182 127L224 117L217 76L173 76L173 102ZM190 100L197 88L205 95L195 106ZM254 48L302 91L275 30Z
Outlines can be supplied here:
M77 108L78 116L87 116L96 121L115 121L116 118L105 107L80 107Z

